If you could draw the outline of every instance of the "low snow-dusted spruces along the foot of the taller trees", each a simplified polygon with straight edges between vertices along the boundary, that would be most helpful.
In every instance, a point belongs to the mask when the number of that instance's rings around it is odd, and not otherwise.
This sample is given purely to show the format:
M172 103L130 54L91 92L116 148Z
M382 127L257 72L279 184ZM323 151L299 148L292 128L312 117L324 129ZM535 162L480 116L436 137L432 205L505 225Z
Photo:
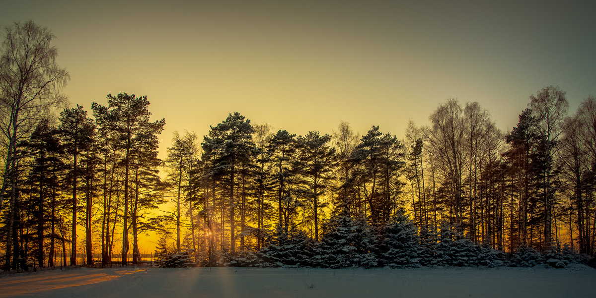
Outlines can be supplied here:
M223 252L216 265L242 267L315 267L315 268L418 268L420 266L555 266L585 262L585 258L564 247L551 247L539 253L519 246L508 258L500 250L474 244L462 235L461 227L443 222L439 231L418 232L404 209L382 225L364 218L335 215L324 221L321 241L303 231L284 231L278 227L256 252ZM158 261L160 266L182 266L187 253L173 253ZM188 260L184 266L189 266ZM192 264L196 265L196 264Z

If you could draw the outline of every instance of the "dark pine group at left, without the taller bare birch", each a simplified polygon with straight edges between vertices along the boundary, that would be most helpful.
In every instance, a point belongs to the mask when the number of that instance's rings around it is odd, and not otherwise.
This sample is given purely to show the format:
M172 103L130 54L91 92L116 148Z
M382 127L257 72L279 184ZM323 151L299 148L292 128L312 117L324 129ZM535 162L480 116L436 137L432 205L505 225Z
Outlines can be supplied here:
M138 262L139 233L156 228L145 215L163 202L165 190L157 175L157 134L164 121L148 121L148 105L146 97L108 95L108 106L93 104L95 120L80 105L65 108L57 125L45 118L17 143L20 175L14 189L7 186L14 197L3 209L13 222L2 235L8 241L6 269L76 265L80 252L93 265L96 246L107 265L117 228L122 262L130 234L132 262Z

